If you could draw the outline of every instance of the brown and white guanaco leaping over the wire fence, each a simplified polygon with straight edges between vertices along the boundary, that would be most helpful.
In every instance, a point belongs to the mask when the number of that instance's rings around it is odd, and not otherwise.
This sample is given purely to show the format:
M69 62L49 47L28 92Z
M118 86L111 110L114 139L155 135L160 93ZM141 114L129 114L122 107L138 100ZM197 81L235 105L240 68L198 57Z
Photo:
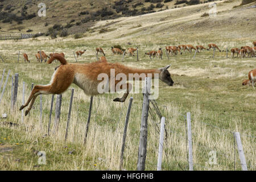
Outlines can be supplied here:
M121 65L118 63L101 63L98 61L87 64L70 64L67 63L67 60L65 60L65 58L59 54L53 54L53 56L51 56L47 61L47 64L51 64L52 61L55 59L59 60L61 65L53 73L50 83L48 85L35 85L30 93L30 96L27 99L26 104L20 106L19 110L22 110L24 109L24 107L27 107L28 104L30 104L25 112L25 115L29 113L35 102L36 97L38 97L40 94L61 94L65 92L65 90L67 90L72 83L76 84L77 86L79 86L79 88L84 90L84 93L86 95L94 96L100 94L98 92L98 84L100 84L102 80L99 80L98 76L101 73L105 73L105 75L109 76L110 80L111 69L114 69L115 76L118 73L125 74L128 78L127 80L129 80L129 74L138 73L138 75L141 75L142 73L144 73L144 76L139 77L139 79L142 80L144 79L144 77L147 77L148 74L150 74L152 78L154 78L154 73L158 73L159 79L162 80L164 83L169 86L172 86L174 84L170 72L168 72L167 70L170 65L167 65L166 67L160 69L137 69L126 67L125 65ZM134 79L134 77L132 79ZM125 102L127 96L129 95L129 92L131 91L132 85L130 83L127 83L126 88L122 88L121 86L119 89L117 89L116 85L119 82L119 80L115 80L114 91L117 92L119 90L127 88L127 92L123 94L122 98L115 98L113 101Z

